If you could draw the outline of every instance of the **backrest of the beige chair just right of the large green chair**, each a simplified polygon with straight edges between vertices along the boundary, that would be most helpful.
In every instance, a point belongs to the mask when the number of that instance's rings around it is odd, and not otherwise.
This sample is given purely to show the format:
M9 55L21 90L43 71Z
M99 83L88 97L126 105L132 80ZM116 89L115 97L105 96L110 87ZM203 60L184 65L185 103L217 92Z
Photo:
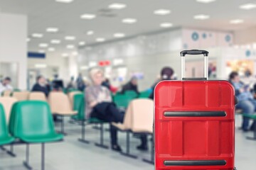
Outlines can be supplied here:
M73 111L68 96L62 91L50 92L48 102L52 113L66 113Z

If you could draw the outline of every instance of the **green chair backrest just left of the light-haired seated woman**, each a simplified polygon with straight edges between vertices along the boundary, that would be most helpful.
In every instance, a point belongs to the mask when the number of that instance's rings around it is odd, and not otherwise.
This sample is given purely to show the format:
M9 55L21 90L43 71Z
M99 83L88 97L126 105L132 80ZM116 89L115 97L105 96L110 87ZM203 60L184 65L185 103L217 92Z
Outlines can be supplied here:
M73 97L73 110L78 111L76 118L78 120L85 119L85 95L84 94L75 94Z

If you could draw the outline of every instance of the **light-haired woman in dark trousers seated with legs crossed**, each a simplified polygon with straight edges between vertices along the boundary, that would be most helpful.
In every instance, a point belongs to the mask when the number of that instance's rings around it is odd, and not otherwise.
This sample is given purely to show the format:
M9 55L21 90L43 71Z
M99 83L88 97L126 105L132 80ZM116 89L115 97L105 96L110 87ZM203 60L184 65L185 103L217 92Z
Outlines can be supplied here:
M90 72L92 85L85 89L86 117L99 118L109 122L122 123L124 114L120 113L112 102L110 90L102 86L103 72L100 69L92 69ZM111 145L114 151L122 151L117 143L117 129L110 126Z

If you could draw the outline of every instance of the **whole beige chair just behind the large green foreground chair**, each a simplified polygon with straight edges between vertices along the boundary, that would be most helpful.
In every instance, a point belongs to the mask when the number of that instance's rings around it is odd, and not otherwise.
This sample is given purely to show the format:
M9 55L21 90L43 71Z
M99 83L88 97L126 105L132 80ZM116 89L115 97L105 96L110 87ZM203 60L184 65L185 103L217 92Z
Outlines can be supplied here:
M70 101L68 96L64 94L62 91L53 91L50 92L48 96L48 103L50 104L50 110L53 114L59 115L61 120L61 133L65 135L64 131L64 117L76 115L78 112L73 111L70 105Z

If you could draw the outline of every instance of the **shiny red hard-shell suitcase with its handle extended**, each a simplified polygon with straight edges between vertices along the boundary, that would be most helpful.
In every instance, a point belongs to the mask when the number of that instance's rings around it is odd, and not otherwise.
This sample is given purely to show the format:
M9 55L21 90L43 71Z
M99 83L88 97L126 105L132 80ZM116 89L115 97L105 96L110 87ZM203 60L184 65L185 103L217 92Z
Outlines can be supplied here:
M205 78L183 78L185 55L204 55ZM233 170L235 92L228 81L208 81L208 52L181 52L182 81L154 91L156 170Z

